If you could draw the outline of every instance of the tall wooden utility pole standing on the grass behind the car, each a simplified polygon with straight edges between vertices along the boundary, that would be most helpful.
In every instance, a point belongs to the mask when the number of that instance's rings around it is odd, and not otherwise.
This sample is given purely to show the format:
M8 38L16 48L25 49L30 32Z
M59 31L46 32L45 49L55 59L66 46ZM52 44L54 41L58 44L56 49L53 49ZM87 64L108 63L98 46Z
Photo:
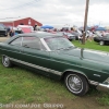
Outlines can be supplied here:
M83 41L82 41L83 45L85 45L85 36L86 36L86 31L87 31L88 4L89 4L89 0L86 0L85 17L84 17L84 29L83 29Z

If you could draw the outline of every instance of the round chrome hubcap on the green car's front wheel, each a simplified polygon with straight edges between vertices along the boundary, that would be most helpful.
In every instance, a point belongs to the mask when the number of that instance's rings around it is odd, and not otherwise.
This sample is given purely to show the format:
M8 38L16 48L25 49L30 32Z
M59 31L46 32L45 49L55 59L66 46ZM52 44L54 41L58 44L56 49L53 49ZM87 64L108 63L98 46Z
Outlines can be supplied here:
M77 75L72 75L69 77L69 86L74 92L80 92L82 89L82 81Z

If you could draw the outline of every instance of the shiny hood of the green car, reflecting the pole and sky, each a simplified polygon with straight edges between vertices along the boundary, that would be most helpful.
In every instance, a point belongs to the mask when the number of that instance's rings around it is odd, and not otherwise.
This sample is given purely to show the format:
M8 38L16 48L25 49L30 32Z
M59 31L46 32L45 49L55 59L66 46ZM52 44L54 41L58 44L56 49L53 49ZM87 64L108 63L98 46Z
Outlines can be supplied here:
M73 48L60 52L68 56L74 56L83 59L109 63L109 52L105 51L84 49L84 48Z

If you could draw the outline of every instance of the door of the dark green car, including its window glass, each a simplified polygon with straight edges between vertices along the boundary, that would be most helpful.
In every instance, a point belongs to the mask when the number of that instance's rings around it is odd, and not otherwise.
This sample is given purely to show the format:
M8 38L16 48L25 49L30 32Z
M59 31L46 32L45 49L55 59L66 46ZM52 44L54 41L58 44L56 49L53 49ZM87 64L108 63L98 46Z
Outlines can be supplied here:
M48 75L49 72L49 51L39 38L34 36L23 37L23 57L22 62L25 65L44 71L43 74Z

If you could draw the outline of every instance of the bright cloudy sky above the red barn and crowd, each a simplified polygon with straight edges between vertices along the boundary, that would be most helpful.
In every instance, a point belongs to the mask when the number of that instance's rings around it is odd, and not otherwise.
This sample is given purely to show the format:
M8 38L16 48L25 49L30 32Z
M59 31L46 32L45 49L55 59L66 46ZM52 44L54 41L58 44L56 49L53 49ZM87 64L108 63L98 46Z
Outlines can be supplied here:
M84 24L86 0L2 0L0 21L33 17L43 24ZM89 0L88 25L109 25L109 0Z

